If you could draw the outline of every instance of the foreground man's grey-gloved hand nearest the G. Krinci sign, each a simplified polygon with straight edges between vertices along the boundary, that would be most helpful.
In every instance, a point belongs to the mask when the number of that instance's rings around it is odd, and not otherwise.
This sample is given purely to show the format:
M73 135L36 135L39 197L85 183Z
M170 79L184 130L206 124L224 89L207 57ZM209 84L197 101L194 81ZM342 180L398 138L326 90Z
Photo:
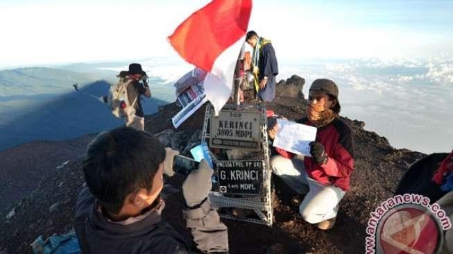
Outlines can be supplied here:
M206 160L201 160L198 169L189 173L184 183L182 183L182 195L189 207L199 205L205 200L207 194L212 189L211 176L214 170L207 164Z

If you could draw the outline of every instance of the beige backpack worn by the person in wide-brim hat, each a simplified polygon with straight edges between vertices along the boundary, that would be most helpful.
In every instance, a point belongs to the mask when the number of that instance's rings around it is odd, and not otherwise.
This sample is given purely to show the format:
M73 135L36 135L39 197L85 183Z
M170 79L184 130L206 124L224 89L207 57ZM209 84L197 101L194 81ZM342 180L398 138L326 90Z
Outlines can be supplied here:
M138 94L135 94L130 101L128 94L128 85L133 83L132 78L119 78L116 85L111 85L107 96L107 105L115 117L133 117L135 115L135 106L137 105Z

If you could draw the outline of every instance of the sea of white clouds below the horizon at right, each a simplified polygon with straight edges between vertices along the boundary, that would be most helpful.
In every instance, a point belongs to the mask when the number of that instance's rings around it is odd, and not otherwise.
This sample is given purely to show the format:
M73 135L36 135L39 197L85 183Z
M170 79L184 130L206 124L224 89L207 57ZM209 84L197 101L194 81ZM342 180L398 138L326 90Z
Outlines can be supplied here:
M367 59L282 66L282 73L306 78L307 94L315 78L339 85L342 115L366 122L366 129L393 146L425 153L451 151L453 60ZM348 68L351 67L351 68ZM298 72L296 72L298 71Z

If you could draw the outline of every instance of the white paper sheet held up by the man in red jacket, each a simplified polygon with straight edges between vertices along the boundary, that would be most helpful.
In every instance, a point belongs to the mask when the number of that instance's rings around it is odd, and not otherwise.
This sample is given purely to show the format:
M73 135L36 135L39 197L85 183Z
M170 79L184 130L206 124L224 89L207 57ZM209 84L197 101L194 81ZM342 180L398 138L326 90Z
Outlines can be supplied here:
M310 155L310 142L316 139L316 127L277 119L278 131L273 146L299 155Z

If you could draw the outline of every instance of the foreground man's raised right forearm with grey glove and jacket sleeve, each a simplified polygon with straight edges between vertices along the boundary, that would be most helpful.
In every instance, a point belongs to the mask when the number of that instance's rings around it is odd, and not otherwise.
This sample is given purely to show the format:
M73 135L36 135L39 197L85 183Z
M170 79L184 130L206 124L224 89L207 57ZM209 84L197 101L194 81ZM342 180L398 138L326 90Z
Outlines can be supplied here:
M228 253L228 228L220 221L207 194L212 188L214 171L205 160L189 173L182 184L187 209L183 211L196 248L202 253Z

